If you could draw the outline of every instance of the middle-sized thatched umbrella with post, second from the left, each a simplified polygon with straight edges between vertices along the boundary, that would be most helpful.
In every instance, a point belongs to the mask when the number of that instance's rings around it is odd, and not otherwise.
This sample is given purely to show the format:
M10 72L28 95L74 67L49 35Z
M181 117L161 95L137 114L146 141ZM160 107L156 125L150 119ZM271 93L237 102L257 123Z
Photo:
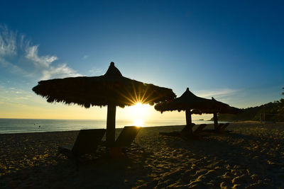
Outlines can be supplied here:
M190 89L187 88L182 96L175 98L173 101L162 102L155 105L155 110L161 113L164 111L178 110L180 112L181 110L185 110L186 124L190 125L192 123L192 109L209 109L214 107L214 105L216 104L211 100L195 96L195 94L190 92Z

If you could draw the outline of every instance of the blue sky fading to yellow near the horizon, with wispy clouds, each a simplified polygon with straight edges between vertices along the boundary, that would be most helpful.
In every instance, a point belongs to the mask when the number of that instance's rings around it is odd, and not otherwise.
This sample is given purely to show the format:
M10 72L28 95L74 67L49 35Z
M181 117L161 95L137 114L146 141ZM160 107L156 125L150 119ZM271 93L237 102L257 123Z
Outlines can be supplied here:
M0 118L105 119L47 103L38 81L121 74L237 108L283 98L283 1L13 1L0 6ZM156 112L147 119L185 118ZM118 108L116 119L132 116Z

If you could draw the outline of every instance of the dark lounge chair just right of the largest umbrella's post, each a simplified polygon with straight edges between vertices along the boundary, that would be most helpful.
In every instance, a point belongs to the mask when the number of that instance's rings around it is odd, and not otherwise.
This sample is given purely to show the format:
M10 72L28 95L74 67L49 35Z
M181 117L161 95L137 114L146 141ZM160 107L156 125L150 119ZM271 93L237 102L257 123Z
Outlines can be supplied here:
M126 152L145 149L144 147L138 146L138 144L135 146L131 145L134 143L134 139L140 130L141 127L125 126L114 142L114 147L109 147L111 157L120 158L123 154L126 154Z

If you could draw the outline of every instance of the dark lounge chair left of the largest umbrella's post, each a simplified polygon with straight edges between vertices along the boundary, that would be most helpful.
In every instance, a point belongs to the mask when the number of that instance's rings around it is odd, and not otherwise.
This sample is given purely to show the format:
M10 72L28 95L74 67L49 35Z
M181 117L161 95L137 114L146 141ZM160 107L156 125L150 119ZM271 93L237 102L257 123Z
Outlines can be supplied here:
M96 153L105 132L104 129L80 130L75 143L72 146L58 147L58 153L75 159L77 165L81 156Z

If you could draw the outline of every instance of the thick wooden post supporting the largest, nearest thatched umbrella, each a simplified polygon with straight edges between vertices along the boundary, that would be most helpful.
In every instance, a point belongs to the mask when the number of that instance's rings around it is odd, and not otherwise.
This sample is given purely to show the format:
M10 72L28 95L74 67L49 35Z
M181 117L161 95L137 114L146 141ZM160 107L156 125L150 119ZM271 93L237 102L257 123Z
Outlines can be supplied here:
M107 146L112 147L115 141L116 105L107 105Z

